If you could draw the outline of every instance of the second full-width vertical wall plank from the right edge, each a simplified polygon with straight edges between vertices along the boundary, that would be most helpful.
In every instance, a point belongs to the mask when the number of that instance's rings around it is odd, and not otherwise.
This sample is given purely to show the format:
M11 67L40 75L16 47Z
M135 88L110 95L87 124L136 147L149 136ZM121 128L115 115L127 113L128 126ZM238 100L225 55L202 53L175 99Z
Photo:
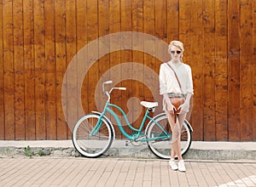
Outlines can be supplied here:
M240 3L228 2L228 53L229 53L229 140L239 141L240 131Z

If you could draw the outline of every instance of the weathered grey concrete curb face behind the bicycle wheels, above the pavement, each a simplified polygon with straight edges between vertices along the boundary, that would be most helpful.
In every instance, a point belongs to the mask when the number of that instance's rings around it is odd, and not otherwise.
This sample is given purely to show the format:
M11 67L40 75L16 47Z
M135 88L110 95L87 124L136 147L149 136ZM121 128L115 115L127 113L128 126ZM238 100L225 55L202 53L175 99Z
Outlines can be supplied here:
M79 157L79 152L73 147L0 147L0 156L74 156ZM158 158L148 149L142 147L113 147L102 157L132 157L132 158ZM256 150L200 150L190 148L183 156L190 160L256 160Z

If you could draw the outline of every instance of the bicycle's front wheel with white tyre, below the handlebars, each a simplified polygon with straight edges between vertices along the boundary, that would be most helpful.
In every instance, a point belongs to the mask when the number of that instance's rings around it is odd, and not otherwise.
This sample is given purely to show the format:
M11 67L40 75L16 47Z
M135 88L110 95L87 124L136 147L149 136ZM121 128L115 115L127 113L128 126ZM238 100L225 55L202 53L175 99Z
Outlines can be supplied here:
M79 119L72 133L73 145L82 156L102 156L113 142L113 129L108 121L97 114L88 114Z

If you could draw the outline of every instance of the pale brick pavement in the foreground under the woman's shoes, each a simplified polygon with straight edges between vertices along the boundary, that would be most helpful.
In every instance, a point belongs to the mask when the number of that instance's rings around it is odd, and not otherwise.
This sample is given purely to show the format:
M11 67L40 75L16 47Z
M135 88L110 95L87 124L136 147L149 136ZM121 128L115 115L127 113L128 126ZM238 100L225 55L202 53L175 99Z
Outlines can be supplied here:
M256 161L186 161L174 172L158 159L0 158L0 186L256 186Z

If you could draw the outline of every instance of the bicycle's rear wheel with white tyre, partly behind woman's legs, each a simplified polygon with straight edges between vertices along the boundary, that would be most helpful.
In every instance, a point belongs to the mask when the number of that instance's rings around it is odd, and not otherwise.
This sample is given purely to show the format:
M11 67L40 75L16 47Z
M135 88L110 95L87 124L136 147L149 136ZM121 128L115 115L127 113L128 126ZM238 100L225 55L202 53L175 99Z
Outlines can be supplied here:
M183 123L181 132L181 153L184 155L190 147L192 134L189 122ZM148 147L155 156L164 159L171 158L172 130L166 114L156 116L154 121L148 123L147 127ZM168 134L168 135L166 135ZM166 137L166 138L165 138Z

